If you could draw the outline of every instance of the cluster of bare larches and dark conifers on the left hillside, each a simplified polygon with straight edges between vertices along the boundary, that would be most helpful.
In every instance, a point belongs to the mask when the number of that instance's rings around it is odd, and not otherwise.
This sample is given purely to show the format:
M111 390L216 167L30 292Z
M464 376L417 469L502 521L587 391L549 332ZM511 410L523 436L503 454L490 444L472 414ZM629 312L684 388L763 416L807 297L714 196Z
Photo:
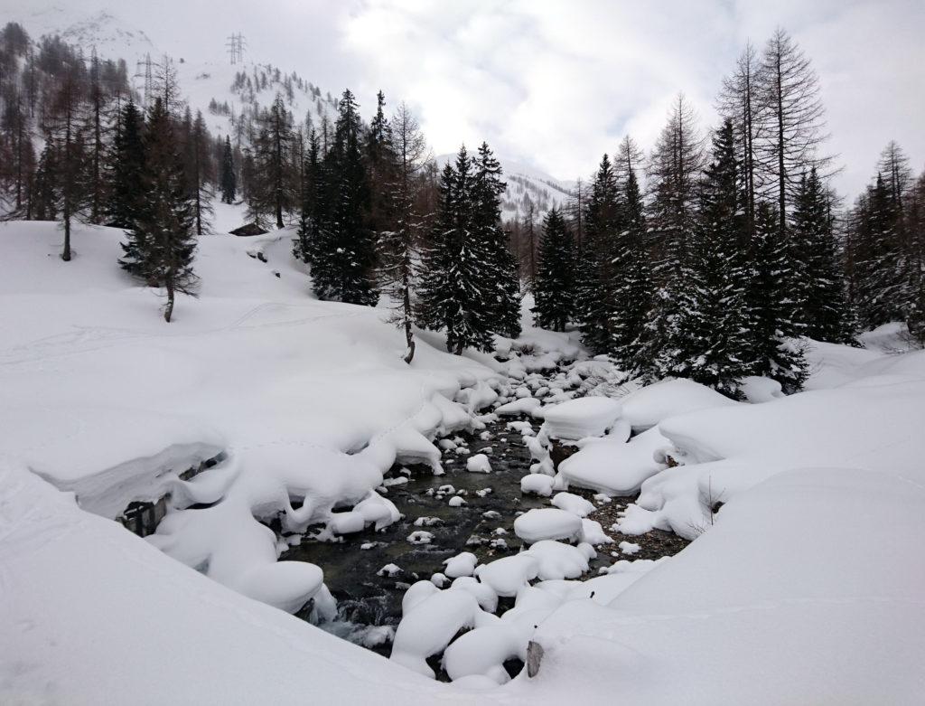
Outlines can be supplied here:
M75 220L126 229L119 260L166 292L194 293L193 236L208 228L216 188L235 197L230 144L179 99L169 58L154 67L145 110L124 61L89 58L57 37L33 45L19 25L0 33L0 193L6 217L60 220L66 262Z

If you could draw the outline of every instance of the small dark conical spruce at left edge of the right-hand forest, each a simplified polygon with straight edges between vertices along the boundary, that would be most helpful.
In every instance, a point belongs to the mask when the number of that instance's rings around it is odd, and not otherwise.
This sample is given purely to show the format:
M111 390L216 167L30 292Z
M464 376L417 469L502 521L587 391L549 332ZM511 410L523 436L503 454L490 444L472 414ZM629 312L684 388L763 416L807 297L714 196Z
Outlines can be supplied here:
M540 328L564 331L575 306L575 244L561 211L552 208L539 239L533 319Z

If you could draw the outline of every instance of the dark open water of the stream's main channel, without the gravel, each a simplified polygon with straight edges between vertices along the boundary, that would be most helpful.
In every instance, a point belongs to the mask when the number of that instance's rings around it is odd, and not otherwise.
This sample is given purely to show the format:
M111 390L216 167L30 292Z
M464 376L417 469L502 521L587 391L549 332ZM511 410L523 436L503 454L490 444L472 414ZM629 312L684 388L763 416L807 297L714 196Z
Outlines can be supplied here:
M520 480L530 472L530 454L519 432L509 431L502 419L487 425L487 439L480 435L452 435L462 439L461 446L470 454L443 453L443 476L434 476L424 466L404 466L412 471L407 483L388 487L386 497L394 502L404 517L375 532L372 529L346 535L341 542L321 542L308 537L281 559L311 562L324 569L327 588L338 600L339 619L360 625L398 625L401 619L401 596L404 589L419 579L430 578L443 570L442 562L461 551L472 551L480 563L520 551L523 542L513 533L513 520L519 512L545 507L549 500L533 495L521 495ZM538 425L535 425L538 428ZM469 473L465 470L469 455L487 453L490 474ZM391 469L388 477L401 477L402 466ZM441 486L451 485L453 493L440 497ZM479 496L477 490L491 489ZM450 497L463 491L462 507L450 507ZM494 511L499 516L487 518ZM414 520L437 518L428 526L414 526ZM505 530L498 534L496 530ZM418 530L434 535L429 544L413 544L408 536ZM497 546L503 539L507 549ZM496 540L496 546L491 541ZM361 545L375 543L371 549ZM386 564L397 564L396 576L376 576Z

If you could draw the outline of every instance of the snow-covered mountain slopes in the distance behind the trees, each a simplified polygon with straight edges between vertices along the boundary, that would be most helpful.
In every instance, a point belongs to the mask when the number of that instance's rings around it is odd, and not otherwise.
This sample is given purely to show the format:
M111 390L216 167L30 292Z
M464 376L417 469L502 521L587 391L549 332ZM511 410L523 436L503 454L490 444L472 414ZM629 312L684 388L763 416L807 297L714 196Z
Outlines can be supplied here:
M58 34L68 43L95 49L104 58L123 58L135 89L144 93L145 62L150 56L156 64L164 51L139 28L129 25L116 12L75 12L60 6L26 9L10 18L19 21L33 39L44 34ZM216 38L217 42L217 38ZM228 58L203 59L195 56L172 56L177 68L180 90L193 112L202 111L209 130L239 138L242 113L251 113L272 103L281 94L299 124L309 122L316 129L324 118L333 120L339 91L323 89L314 81L291 68L261 63L259 57L245 56L231 64ZM156 71L156 67L154 68ZM364 105L373 101L361 100ZM438 167L454 155L439 155ZM565 204L573 191L572 181L558 180L535 167L499 155L508 189L502 203L502 217L524 219L532 215L538 222L550 208Z

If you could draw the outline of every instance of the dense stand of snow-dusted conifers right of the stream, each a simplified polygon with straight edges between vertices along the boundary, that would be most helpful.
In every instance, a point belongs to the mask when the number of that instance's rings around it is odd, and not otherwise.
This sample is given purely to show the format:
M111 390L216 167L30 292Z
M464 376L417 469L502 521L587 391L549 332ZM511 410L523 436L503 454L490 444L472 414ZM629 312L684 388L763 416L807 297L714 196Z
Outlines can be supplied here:
M802 337L853 343L898 319L921 341L925 182L901 151L887 148L840 218L819 83L785 31L746 46L717 105L708 142L679 96L648 158L626 137L571 208L549 213L537 325L573 323L628 375L733 396L749 376L798 390Z

